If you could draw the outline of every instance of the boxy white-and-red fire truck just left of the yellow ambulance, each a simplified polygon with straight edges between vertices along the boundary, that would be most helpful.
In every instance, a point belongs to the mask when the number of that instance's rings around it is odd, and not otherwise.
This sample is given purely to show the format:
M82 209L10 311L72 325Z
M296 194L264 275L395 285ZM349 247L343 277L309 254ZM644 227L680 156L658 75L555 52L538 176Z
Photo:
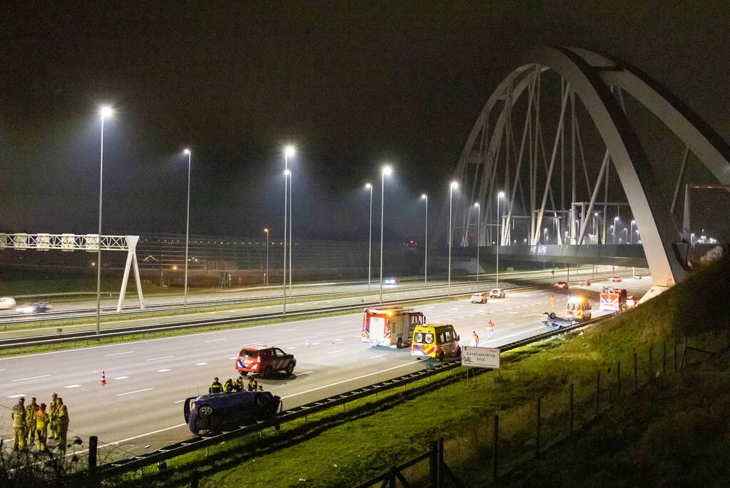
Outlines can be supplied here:
M426 324L426 316L412 308L366 308L362 342L372 346L408 347L416 326Z

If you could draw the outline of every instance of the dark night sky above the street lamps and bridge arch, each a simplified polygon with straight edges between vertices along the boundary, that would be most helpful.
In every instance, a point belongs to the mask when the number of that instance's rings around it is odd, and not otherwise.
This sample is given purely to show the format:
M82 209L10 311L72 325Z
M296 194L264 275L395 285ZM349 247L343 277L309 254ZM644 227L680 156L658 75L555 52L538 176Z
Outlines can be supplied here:
M366 239L391 161L386 237L419 240L531 45L626 58L730 139L730 3L638 3L3 1L0 229L96 232L108 102L104 233L184 232L190 147L191 232L280 235L291 142L295 235Z

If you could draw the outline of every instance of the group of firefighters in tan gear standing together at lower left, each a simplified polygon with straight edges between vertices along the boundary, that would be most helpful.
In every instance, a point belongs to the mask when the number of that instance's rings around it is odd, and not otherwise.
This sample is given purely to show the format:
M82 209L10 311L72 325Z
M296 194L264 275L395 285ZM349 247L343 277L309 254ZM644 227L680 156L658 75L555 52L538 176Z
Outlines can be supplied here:
M47 441L58 441L56 448L66 451L66 435L69 432L69 409L64 400L53 392L49 405L31 403L26 405L26 398L18 398L18 404L12 408L13 450L25 451L26 446L35 443L38 452L47 452Z

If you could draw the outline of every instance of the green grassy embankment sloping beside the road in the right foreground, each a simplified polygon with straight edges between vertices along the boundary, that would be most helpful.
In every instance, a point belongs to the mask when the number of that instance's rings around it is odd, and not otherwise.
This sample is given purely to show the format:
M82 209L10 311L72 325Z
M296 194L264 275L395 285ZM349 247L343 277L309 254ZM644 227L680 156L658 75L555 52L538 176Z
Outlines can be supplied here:
M261 487L350 486L420 454L430 441L443 436L447 464L468 486L483 486L491 481L495 413L500 416L504 473L534 455L538 398L545 446L566 434L570 384L575 384L578 429L595 416L596 373L602 373L599 407L605 412L608 405L633 401L634 352L639 358L639 383L645 384L656 375L663 380L664 373L673 369L675 338L690 337L692 346L715 351L720 343L724 346L724 329L718 335L715 328L724 327L730 308L729 272L730 264L722 262L599 327L510 351L503 355L502 370L477 375L468 384L464 370L458 368L434 379L438 389L429 389L424 381L405 391L353 402L347 413L328 411L309 422L285 425L278 433L264 432L263 438L229 441L171 460L164 476L145 470L147 476L134 483L184 485L189 470L197 468L204 472L204 486L211 487L251 486L252 480ZM692 354L694 359L701 355ZM621 391L618 362L623 365ZM661 449L681 449L680 444L667 440ZM426 469L423 463L408 470L406 477L424 481ZM616 484L625 483L617 479Z

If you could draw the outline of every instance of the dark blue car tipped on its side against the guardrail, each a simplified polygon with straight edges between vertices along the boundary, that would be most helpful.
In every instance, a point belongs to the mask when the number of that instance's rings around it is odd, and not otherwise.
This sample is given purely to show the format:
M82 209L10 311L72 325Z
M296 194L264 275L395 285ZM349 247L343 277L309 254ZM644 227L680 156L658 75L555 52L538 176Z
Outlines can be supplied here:
M185 400L185 423L193 434L233 430L242 423L269 419L281 405L269 392L212 393Z

